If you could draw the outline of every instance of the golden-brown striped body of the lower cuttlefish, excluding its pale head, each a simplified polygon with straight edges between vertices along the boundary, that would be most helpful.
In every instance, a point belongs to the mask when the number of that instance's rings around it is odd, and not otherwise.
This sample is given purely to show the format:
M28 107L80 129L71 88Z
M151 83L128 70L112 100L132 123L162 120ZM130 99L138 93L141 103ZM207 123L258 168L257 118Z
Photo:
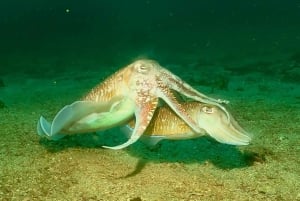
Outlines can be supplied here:
M192 116L197 115L197 111L201 109L204 104L199 102L184 103L184 109ZM130 127L134 127L135 121L129 123ZM169 106L163 106L154 112L153 118L148 125L144 134L146 135L164 135L172 136L182 133L193 133L194 131L189 127Z

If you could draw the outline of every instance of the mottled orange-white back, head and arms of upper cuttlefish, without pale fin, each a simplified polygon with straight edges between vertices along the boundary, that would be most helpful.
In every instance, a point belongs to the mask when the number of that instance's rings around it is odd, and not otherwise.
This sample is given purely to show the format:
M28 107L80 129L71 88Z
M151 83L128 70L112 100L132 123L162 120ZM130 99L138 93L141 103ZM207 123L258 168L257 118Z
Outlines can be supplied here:
M178 103L172 90L196 101L216 105L227 113L220 105L224 101L201 94L153 60L133 62L92 89L83 100L108 101L115 96L132 100L135 104L134 114L137 121L131 138L126 143L115 147L105 146L111 149L122 149L137 141L144 133L157 108L159 98L163 99L193 131L201 132L201 128Z

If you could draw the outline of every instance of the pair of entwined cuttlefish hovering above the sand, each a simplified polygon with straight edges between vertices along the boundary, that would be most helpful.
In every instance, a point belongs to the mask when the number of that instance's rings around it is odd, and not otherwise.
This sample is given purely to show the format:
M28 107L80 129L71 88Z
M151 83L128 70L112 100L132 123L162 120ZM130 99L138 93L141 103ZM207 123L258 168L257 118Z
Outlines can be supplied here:
M180 101L183 95L191 101ZM40 117L40 136L58 140L65 135L97 132L117 126L130 130L122 149L141 137L152 144L162 139L190 139L208 134L221 143L247 145L251 138L223 106L153 60L137 60L93 88L80 101L62 108L49 123Z

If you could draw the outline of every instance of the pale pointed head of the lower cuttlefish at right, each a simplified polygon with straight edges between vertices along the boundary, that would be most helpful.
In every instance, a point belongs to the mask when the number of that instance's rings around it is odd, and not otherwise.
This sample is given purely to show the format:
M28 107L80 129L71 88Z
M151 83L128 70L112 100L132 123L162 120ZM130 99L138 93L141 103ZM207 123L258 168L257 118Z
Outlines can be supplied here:
M228 122L228 113L226 114L221 108L204 104L199 106L196 112L199 127L218 142L248 145L251 141L249 134L238 125L231 115Z

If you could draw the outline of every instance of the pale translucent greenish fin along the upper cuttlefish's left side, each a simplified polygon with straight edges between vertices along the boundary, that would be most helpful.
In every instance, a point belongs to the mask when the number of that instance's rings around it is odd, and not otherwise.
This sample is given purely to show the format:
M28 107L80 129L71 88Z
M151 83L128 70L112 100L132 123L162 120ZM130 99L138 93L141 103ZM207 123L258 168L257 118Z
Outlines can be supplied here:
M134 104L121 97L109 102L76 101L62 108L49 123L40 117L37 131L40 136L58 140L73 133L95 132L123 125L133 118Z

